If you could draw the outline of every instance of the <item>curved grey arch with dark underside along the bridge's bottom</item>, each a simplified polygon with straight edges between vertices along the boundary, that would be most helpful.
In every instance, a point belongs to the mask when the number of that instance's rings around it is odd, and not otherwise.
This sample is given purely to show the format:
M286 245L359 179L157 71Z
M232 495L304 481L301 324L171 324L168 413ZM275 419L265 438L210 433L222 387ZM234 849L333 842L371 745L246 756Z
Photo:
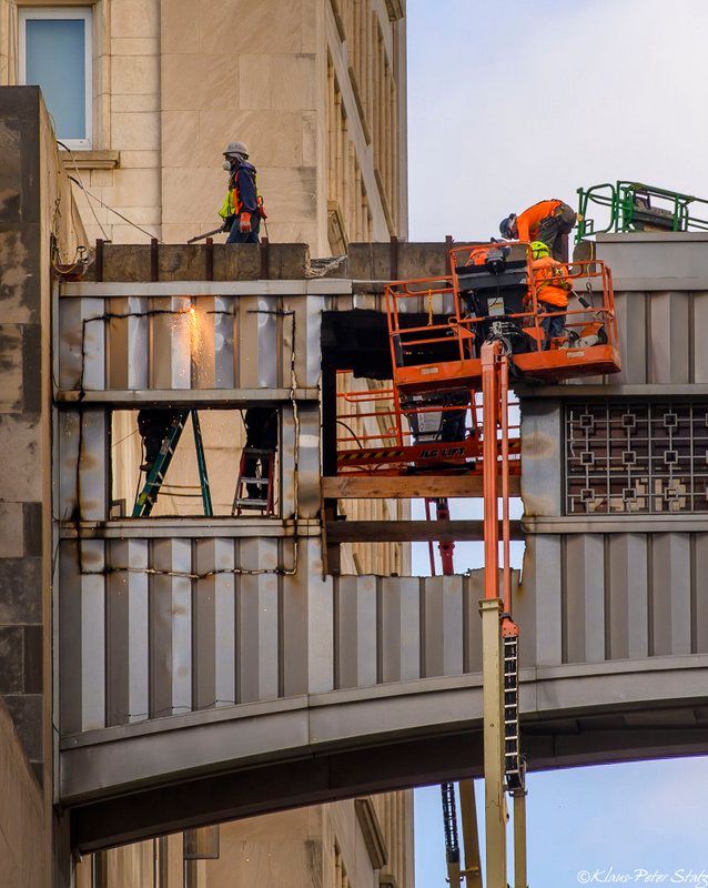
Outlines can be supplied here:
M672 744L680 754L689 748L696 751L701 745L705 749L708 655L526 669L522 673L520 704L530 768L636 759L643 757L644 748L651 756L658 754L657 749L668 755ZM374 785L381 789L419 785L436 781L441 775L454 779L481 769L481 723L478 674L151 719L65 737L60 751L60 800L87 806L85 815L81 813L83 823L92 808L107 804L105 799L131 794L125 804L136 805L141 814L134 820L125 818L123 811L117 823L123 829L131 824L130 837L134 838L176 828L178 814L171 806L160 810L159 805L146 805L150 798L156 801L163 793L169 795L170 785L175 784L182 785L175 790L180 793L192 786L193 800L180 811L179 817L186 818L180 824L196 825L199 817L194 810L190 814L190 806L206 806L202 823L208 817L218 820L253 813L239 807L239 796L231 797L227 810L218 809L213 797L198 791L199 780L231 779L229 775L236 779L235 775L253 775L254 769L261 774L261 789L257 798L249 797L249 805L260 811L313 799L345 798L372 791ZM466 737L464 760L446 760L445 743L454 745L461 736ZM431 741L435 744L433 750ZM396 745L415 751L392 768L385 750L393 753ZM363 749L368 750L364 756L366 779L347 769L334 780L333 758L345 760ZM292 763L297 761L306 763L311 776L320 774L324 784L312 778L310 793L274 779L283 763L294 768ZM196 783L182 784L185 780ZM111 803L112 817L118 816L121 805ZM168 814L170 823L161 821ZM91 839L77 834L79 845L87 842L84 848L127 840L124 834L99 836L104 827L97 820L91 823L93 826L83 827L93 830Z

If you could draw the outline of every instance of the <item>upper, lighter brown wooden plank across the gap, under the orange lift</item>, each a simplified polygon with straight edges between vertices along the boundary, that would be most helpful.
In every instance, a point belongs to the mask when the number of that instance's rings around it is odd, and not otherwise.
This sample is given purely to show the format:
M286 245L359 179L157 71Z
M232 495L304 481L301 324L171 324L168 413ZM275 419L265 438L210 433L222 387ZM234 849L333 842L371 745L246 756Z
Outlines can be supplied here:
M502 488L499 480L499 490ZM520 478L509 477L509 494L520 495ZM325 500L419 500L436 496L482 496L482 475L338 475L322 478Z

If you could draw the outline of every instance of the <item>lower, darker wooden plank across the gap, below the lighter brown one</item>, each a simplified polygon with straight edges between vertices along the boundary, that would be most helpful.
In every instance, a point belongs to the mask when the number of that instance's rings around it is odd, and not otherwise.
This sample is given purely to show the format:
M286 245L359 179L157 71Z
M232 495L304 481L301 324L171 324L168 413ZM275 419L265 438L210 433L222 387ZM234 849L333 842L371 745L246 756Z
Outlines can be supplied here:
M524 539L520 521L510 522L512 539ZM327 543L426 543L484 539L482 521L334 521L326 523ZM499 524L499 538L502 525Z

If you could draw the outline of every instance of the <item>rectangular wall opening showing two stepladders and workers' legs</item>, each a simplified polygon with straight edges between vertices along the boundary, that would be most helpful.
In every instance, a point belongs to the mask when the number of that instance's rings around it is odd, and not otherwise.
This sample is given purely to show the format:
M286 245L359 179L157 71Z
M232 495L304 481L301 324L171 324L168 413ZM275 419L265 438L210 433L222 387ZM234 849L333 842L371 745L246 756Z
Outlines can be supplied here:
M280 411L111 414L111 518L280 514Z

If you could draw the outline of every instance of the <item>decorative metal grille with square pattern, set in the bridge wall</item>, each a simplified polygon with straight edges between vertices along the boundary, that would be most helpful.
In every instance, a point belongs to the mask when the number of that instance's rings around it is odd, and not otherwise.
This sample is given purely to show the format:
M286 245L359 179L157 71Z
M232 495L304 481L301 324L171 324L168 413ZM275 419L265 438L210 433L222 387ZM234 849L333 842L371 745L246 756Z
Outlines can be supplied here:
M567 514L708 512L708 402L566 407Z

